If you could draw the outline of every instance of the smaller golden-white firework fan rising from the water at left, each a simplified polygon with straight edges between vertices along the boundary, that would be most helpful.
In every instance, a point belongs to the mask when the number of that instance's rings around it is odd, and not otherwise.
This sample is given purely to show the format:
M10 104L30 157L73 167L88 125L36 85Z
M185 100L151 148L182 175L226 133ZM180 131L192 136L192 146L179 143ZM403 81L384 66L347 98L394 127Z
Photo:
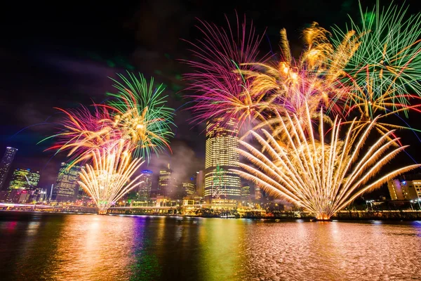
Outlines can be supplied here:
M98 206L99 214L107 214L107 209L123 195L138 186L140 176L130 181L131 176L143 162L131 159L131 148L123 141L112 147L95 148L92 152L93 164L82 169L79 184Z

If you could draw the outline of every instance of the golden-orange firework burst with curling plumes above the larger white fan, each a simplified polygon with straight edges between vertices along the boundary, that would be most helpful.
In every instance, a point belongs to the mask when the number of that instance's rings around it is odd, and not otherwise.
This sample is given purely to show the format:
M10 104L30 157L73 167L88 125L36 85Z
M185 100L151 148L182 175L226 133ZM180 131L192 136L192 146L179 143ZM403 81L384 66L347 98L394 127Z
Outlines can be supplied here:
M297 115L302 122L305 104L312 116L321 108L326 114L344 111L341 101L347 96L348 87L338 78L358 46L357 37L349 32L337 48L330 44L329 37L330 33L314 22L303 31L305 51L299 60L295 60L286 30L281 30L281 57L277 63L243 64L254 67L240 72L250 80L251 95L270 100L269 109L266 109L269 115Z

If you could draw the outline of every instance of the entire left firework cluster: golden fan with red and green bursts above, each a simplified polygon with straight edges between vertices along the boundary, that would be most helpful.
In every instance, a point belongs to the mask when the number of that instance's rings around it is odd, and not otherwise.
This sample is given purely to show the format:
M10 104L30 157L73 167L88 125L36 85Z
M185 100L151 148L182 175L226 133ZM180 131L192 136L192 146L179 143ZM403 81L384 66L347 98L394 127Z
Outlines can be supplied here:
M140 159L149 161L151 151L171 150L168 138L173 136L174 110L165 107L162 85L154 88L153 79L148 83L141 74L119 77L121 82L114 80L118 92L109 93L113 99L106 105L93 105L93 113L83 106L59 109L65 113L60 122L64 129L50 137L58 142L49 149L68 151L72 164L93 162L81 172L80 184L100 214L138 185L138 177L129 181L142 164Z

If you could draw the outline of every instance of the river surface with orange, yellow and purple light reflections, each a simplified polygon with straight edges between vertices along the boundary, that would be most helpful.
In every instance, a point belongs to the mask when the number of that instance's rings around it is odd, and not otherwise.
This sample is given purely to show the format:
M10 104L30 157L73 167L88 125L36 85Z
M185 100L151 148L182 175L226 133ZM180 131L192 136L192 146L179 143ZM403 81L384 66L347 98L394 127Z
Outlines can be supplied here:
M421 222L0 213L1 280L420 280Z

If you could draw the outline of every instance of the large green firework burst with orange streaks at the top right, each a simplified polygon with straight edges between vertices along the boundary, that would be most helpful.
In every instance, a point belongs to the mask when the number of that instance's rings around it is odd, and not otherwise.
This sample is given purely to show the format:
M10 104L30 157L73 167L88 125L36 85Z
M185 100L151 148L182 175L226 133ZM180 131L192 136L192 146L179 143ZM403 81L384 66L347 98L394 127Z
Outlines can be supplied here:
M357 111L361 121L382 118L409 110L420 112L421 85L421 13L406 15L406 9L391 5L363 11L361 23L351 20L350 29L359 34L359 47L344 65L341 81L350 86L348 114ZM349 31L334 30L333 44L338 45ZM410 105L415 100L417 105ZM383 123L382 133L404 128Z

